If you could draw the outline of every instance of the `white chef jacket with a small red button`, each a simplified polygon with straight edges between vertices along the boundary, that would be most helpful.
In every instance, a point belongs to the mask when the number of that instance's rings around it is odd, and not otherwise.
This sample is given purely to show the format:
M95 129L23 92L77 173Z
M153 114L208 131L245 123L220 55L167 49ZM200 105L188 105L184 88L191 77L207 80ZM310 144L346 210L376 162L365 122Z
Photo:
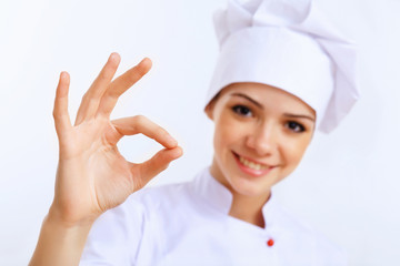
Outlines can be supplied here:
M273 196L262 207L264 228L229 216L231 202L209 168L192 182L144 188L96 221L80 265L347 265L342 249Z

